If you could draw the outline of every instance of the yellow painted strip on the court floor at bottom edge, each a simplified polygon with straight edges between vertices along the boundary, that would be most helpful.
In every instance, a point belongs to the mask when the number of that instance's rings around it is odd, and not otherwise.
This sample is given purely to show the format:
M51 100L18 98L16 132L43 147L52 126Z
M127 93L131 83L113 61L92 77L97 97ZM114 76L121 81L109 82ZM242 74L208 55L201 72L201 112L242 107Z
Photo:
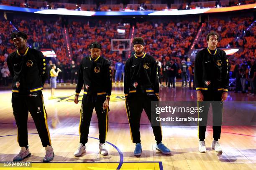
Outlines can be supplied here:
M0 167L3 167L3 163ZM31 167L16 167L15 170L115 170L119 163L31 163ZM12 167L0 168L10 170ZM159 162L124 162L120 170L161 170Z

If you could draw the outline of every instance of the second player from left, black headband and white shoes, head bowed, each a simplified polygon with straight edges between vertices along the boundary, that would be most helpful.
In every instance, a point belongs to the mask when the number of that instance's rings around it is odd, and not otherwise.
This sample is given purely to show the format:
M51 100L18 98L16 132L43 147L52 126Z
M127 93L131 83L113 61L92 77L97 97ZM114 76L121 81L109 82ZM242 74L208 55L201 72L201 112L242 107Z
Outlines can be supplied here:
M88 142L89 127L92 111L95 108L100 133L100 154L108 155L105 141L108 132L108 111L111 95L111 67L108 60L100 56L101 45L92 42L89 46L91 55L83 58L79 71L74 102L78 103L78 96L84 86L82 99L81 118L79 124L80 143L75 156L85 152L85 144Z

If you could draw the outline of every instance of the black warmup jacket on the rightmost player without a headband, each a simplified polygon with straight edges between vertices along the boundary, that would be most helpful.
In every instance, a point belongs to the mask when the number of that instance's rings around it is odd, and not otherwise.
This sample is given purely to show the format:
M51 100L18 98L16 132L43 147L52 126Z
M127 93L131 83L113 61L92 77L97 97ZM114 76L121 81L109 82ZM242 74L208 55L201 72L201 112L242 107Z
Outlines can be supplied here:
M216 49L212 54L209 48L199 51L195 59L196 90L223 90L228 92L228 57L225 51Z

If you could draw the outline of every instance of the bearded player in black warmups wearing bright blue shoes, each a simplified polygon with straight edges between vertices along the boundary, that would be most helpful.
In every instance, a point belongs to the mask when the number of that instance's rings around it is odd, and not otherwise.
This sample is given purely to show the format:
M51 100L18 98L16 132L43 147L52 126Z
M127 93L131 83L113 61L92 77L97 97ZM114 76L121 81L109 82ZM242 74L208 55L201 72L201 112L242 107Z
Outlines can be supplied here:
M156 139L156 150L170 154L171 151L161 142L160 122L156 122L154 118L151 119L151 101L159 101L156 60L144 52L144 40L141 37L135 37L132 43L135 54L125 62L124 92L131 139L133 143L136 143L134 155L140 156L142 152L140 119L143 109L148 119L155 121L155 125L153 126L152 122L151 125Z

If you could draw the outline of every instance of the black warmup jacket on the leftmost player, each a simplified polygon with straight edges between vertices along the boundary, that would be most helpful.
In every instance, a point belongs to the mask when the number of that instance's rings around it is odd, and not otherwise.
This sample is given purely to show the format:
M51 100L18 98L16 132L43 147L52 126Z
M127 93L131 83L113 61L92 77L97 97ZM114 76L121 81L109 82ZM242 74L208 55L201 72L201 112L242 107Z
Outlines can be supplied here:
M46 61L41 51L27 47L24 55L18 50L7 57L13 77L13 92L30 94L43 90L47 79Z

